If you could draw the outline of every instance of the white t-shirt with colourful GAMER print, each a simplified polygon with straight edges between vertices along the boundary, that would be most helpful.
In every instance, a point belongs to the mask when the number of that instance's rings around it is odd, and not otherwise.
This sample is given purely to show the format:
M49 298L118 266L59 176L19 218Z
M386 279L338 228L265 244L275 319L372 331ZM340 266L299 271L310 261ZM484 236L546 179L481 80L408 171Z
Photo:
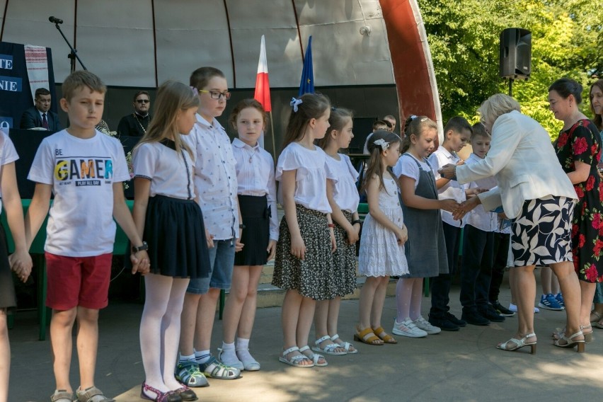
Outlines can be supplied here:
M113 183L130 180L122 144L101 132L89 139L62 130L45 138L29 180L52 185L44 250L68 257L113 252Z

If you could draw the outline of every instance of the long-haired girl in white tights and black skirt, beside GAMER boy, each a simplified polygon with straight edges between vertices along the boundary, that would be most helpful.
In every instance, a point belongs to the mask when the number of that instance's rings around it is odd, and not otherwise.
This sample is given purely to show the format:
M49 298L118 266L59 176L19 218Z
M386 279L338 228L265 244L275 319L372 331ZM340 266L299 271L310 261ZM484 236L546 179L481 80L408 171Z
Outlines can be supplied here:
M193 390L176 380L174 367L188 282L209 275L205 225L195 202L195 154L182 139L195 124L198 106L189 86L166 81L157 91L157 113L149 130L132 153L132 215L151 260L140 321L145 375L140 397L150 401L197 400Z

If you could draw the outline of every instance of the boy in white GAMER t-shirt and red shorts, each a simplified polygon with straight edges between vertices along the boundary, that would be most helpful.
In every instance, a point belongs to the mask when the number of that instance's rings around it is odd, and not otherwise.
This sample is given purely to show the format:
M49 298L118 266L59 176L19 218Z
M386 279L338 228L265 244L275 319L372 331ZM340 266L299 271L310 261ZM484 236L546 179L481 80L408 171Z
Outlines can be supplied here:
M117 139L95 130L103 116L106 87L88 71L65 79L61 108L69 127L45 138L28 176L35 193L25 217L28 248L50 208L45 243L46 305L52 308L50 343L57 389L52 402L71 402L69 384L71 331L77 333L80 386L76 400L107 402L94 386L98 345L98 310L108 304L115 221L132 242L132 273L149 272L147 243L137 233L123 195L130 180L125 154Z

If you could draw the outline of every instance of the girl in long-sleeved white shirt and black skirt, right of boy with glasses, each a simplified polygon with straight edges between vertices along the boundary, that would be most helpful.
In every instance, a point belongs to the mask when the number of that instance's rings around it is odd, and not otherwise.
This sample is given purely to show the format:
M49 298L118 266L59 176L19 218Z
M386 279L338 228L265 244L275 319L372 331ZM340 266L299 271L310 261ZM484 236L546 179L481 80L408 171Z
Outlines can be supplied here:
M232 287L224 306L224 340L219 360L227 366L247 371L260 369L260 363L249 353L249 338L260 275L265 263L274 258L278 240L274 159L258 143L265 120L264 108L255 99L239 102L229 118L239 134L232 142L232 152L236 159L237 193L245 226L241 243L245 247L234 256Z

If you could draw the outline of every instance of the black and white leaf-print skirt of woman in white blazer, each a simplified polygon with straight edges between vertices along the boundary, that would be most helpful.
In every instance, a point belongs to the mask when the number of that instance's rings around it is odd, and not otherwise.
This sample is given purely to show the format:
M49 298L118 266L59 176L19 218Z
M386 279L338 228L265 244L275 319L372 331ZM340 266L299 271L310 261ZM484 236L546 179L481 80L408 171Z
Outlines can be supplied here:
M547 195L524 202L512 224L513 265L549 265L572 260L575 200Z

